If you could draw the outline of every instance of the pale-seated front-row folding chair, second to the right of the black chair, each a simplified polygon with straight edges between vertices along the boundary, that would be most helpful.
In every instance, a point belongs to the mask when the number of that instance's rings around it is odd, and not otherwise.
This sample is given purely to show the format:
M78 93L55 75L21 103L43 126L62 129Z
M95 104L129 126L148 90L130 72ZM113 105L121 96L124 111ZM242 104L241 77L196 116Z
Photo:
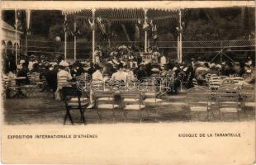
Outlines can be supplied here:
M142 121L141 111L145 109L145 105L143 104L143 99L141 96L141 92L121 92L121 98L124 101L124 116L126 120L126 114L128 111L138 111L140 122ZM125 101L126 99L135 99L134 101Z

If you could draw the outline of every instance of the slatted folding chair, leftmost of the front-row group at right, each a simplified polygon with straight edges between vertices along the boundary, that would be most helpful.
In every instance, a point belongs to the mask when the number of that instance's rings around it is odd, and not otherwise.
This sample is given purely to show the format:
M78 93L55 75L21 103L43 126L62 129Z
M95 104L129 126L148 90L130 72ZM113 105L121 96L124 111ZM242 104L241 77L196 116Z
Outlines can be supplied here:
M200 120L200 112L206 113L206 119L209 119L209 112L214 117L211 110L211 92L207 87L192 87L187 90L187 105L189 106L190 118L192 112L196 112Z

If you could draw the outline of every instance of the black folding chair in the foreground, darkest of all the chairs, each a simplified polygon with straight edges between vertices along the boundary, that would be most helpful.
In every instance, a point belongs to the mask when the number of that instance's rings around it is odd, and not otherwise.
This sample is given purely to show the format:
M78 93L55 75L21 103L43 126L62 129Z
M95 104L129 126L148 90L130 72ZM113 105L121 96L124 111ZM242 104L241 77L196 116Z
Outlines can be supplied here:
M63 87L62 92L64 95L64 102L66 106L66 114L64 116L64 125L66 120L69 118L73 125L73 119L70 115L72 109L78 109L80 111L80 123L86 123L84 118L85 107L88 105L88 99L82 97L82 92L76 87Z

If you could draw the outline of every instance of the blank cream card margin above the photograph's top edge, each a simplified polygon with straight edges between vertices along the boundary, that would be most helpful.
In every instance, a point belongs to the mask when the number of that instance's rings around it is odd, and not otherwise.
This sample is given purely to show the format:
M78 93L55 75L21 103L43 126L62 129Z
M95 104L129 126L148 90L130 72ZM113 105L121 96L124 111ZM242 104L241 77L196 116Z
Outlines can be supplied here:
M2 10L61 10L72 14L92 8L147 8L161 10L177 10L185 8L216 8L216 7L255 7L254 1L2 1ZM75 10L73 10L75 9Z

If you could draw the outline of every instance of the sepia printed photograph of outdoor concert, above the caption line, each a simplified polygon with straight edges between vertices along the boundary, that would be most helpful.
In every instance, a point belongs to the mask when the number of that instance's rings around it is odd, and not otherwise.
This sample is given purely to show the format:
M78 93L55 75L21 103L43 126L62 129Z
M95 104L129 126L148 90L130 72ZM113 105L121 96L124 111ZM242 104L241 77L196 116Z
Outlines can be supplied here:
M254 7L2 10L6 125L255 116Z

